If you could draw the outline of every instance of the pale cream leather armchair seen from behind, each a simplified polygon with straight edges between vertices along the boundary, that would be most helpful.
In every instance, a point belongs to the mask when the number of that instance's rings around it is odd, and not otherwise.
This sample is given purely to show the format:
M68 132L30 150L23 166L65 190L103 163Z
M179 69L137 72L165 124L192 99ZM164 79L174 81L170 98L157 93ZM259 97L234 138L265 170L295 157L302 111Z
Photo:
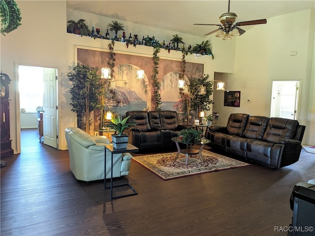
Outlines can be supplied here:
M104 179L105 144L107 137L91 136L79 128L65 129L70 169L77 180L95 181ZM107 151L108 152L108 151ZM106 179L111 175L111 154L106 155ZM129 153L114 154L113 178L129 174L132 156Z

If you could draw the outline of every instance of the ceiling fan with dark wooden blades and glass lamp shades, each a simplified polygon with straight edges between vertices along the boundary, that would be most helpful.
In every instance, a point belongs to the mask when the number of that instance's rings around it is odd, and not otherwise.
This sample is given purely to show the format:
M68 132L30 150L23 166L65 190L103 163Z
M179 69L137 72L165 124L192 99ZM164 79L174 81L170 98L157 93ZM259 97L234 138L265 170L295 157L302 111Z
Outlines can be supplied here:
M238 26L250 26L250 25L259 25L259 24L266 24L266 19L261 20L253 20L253 21L243 21L243 22L237 22L234 24L234 22L237 19L236 13L230 12L230 0L228 0L228 12L223 13L219 19L222 25L218 24L194 24L194 25L200 25L200 26L219 26L218 29L213 30L205 35L209 35L212 33L216 34L216 37L223 37L224 40L231 39L231 36L238 36L242 35L246 31L244 29L239 28Z

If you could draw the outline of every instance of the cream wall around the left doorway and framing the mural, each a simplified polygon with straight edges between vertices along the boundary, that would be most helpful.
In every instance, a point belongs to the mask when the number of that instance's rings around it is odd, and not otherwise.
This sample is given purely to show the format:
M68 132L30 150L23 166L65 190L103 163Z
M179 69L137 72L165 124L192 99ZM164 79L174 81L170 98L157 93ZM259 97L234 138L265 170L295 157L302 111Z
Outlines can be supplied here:
M73 20L80 18L86 19L90 28L93 26L105 27L110 23L110 18L95 16L88 13L66 10L66 3L60 1L16 1L21 9L21 26L10 32L5 37L1 37L0 46L0 66L3 73L8 74L11 81L10 85L10 120L11 120L11 139L14 152L20 152L20 137L18 129L20 124L17 122L17 114L19 115L19 97L16 79L17 65L32 65L40 67L49 67L58 69L58 103L59 103L59 149L66 149L64 138L64 129L76 126L76 115L71 111L70 103L70 83L67 79L67 73L73 68L76 62L76 46L91 47L95 50L108 51L108 40L93 39L90 37L78 37L74 34L66 33L67 17L73 17ZM72 15L71 15L72 14ZM68 15L68 16L67 16ZM70 19L70 18L69 18ZM98 24L98 23L102 24ZM159 40L170 40L173 34L179 34L188 44L194 45L201 43L202 38L192 35L184 35L179 32L171 32L152 27L142 27L137 24L126 24L126 31L137 31L138 35L157 35ZM103 30L105 31L105 30ZM127 31L128 32L128 31ZM154 33L153 33L154 32ZM111 32L112 33L112 32ZM167 38L168 36L168 38ZM191 43L190 43L191 40ZM214 45L215 56L220 54L220 47ZM115 52L120 53L136 53L148 58L152 58L153 48L146 46L132 45L126 48L125 43L116 42ZM159 53L161 58L172 58L181 60L182 53L161 50ZM219 56L220 58L220 56ZM187 56L187 61L199 62L205 64L205 73L213 77L215 64L220 64L220 59L212 60L210 56L195 58L193 55ZM224 68L223 68L224 69Z

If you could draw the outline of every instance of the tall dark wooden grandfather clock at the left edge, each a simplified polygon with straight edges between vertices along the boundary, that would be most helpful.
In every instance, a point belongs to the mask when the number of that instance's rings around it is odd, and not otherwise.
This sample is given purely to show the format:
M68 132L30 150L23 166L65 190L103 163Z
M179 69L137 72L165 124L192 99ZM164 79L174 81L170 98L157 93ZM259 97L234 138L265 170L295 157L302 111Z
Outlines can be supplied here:
M11 79L7 74L0 73L0 84L1 84L1 113L0 113L0 124L1 124L1 138L0 138L0 156L11 156L13 155L13 149L11 148L10 139L10 108L9 108L9 84Z

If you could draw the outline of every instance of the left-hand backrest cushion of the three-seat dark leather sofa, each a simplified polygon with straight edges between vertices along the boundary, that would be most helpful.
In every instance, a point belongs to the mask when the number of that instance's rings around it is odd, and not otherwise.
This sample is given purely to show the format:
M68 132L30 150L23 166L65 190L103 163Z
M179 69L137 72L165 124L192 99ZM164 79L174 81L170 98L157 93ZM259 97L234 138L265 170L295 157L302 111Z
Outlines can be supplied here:
M226 126L227 132L242 136L249 116L248 114L230 114Z

